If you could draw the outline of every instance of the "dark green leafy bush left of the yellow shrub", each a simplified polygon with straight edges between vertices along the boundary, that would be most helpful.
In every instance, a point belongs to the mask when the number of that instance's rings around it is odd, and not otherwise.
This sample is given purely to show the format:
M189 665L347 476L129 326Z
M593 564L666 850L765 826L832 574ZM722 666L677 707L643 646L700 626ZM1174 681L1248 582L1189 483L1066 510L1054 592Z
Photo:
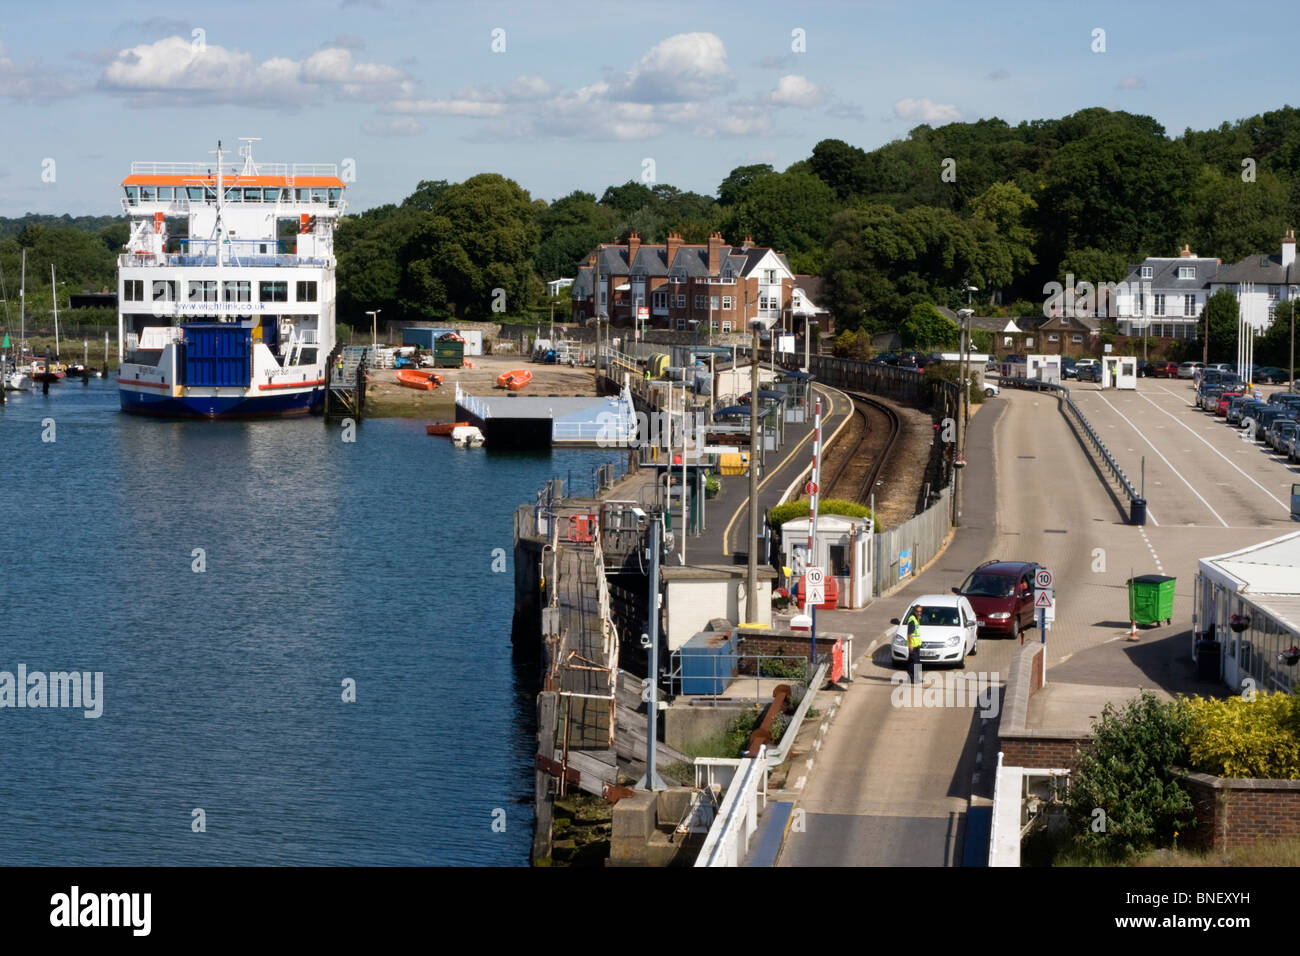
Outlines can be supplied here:
M1092 748L1082 750L1070 778L1069 816L1080 848L1123 857L1167 847L1193 826L1192 799L1173 767L1187 758L1190 717L1184 708L1144 691L1122 709L1106 704L1093 724ZM1097 831L1095 813L1105 813Z

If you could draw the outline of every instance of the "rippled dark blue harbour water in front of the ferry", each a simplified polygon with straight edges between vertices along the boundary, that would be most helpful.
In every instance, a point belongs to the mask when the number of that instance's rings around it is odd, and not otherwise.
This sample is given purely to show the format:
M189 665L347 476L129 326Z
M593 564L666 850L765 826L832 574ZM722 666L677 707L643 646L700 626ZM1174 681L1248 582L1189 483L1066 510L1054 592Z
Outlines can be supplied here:
M0 709L8 864L526 864L512 512L616 454L139 419L99 380L10 397L0 670L104 689L99 718Z

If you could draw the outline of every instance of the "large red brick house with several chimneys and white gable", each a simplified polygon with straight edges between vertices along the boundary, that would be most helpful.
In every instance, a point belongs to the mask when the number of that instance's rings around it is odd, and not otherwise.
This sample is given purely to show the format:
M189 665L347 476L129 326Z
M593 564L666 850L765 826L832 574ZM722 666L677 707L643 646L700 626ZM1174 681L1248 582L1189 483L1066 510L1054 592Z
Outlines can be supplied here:
M714 233L705 245L682 242L676 233L663 245L642 243L632 233L625 243L602 245L588 255L573 281L573 319L595 315L593 273L599 256L599 311L614 325L630 328L637 312L642 328L742 332L748 320L796 332L803 328L809 297L797 297L790 264L776 250L749 237L731 246ZM807 277L800 277L805 280ZM823 323L823 332L826 325Z

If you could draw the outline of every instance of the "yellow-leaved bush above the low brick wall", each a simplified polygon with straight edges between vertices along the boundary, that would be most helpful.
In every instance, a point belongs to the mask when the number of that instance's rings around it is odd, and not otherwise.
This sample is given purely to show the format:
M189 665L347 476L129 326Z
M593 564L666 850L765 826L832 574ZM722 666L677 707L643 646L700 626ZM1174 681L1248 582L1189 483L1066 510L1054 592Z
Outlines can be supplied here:
M1260 693L1253 700L1192 697L1187 760L1216 777L1300 780L1300 696Z

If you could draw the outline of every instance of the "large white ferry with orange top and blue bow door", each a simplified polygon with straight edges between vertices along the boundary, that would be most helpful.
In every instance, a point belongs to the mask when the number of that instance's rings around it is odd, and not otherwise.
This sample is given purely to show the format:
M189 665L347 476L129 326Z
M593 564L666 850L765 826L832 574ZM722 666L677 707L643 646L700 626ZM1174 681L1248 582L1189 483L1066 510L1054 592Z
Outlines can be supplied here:
M118 258L122 411L199 419L318 411L334 349L334 164L133 163ZM185 238L169 241L169 219ZM292 225L286 225L292 224ZM283 233L292 238L280 238Z

